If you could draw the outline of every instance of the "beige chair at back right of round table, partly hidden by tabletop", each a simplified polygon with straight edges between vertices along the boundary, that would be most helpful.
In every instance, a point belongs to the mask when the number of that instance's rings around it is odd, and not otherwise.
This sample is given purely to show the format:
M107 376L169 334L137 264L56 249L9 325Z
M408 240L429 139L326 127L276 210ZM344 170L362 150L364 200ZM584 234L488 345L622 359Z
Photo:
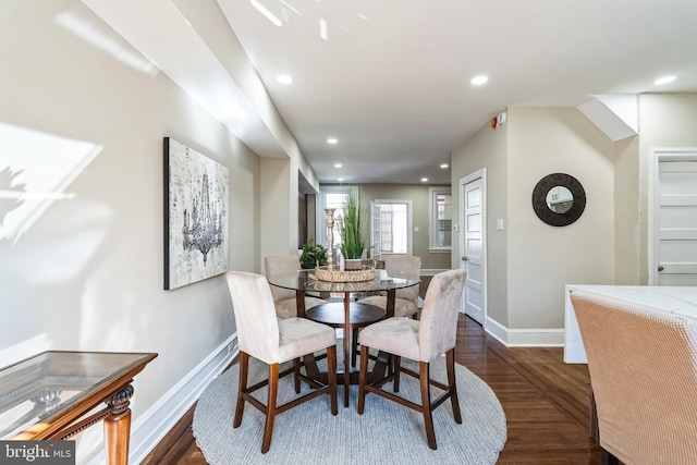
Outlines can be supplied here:
M421 257L413 255L387 255L384 269L388 276L399 278L400 274L418 277L421 272ZM416 317L418 311L418 285L406 289L398 289L394 293L394 316ZM366 297L360 301L364 304L377 305L387 308L388 297L384 295Z

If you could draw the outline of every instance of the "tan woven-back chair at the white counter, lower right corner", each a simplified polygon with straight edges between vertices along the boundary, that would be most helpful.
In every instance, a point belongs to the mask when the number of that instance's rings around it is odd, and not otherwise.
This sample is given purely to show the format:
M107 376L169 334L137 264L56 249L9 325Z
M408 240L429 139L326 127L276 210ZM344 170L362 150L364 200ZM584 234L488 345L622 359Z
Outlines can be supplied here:
M603 463L697 464L697 322L574 291Z

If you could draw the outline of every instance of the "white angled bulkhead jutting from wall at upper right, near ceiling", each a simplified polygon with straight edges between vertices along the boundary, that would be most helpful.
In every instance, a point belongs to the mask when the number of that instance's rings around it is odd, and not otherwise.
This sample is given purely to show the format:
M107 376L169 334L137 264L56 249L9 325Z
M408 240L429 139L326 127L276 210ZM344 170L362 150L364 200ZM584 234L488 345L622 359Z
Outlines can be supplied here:
M595 95L576 107L612 142L638 133L638 103L634 94Z

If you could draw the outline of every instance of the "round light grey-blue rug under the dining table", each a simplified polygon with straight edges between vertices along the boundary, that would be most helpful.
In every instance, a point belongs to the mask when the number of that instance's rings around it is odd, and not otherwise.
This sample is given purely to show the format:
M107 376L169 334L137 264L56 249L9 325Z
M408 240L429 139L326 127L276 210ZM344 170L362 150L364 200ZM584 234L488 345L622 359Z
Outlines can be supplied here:
M402 359L418 371L418 365ZM503 408L493 391L462 365L455 365L462 425L453 419L450 401L433 411L438 450L428 448L424 417L411 408L375 394L366 395L363 415L356 413L358 387L352 386L350 405L338 389L339 415L332 416L329 396L321 395L276 417L271 450L261 454L264 415L248 403L242 425L232 428L239 365L230 367L204 390L194 412L196 444L212 465L231 464L460 464L497 462L506 440ZM266 378L266 365L250 359L249 380ZM444 358L431 363L431 378L445 381ZM403 375L400 395L419 402L415 378ZM296 396L293 377L279 382L279 405ZM386 384L391 391L392 384ZM308 391L303 383L302 393ZM440 390L432 388L436 399ZM266 403L266 388L257 391ZM301 395L302 395L301 393Z

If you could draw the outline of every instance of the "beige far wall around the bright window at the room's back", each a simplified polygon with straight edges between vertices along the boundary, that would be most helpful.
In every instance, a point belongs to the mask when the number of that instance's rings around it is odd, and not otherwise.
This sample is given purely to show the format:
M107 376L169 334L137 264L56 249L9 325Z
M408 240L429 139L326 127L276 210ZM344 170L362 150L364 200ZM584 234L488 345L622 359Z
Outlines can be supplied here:
M431 186L420 184L362 184L360 204L369 221L371 200L412 200L413 228L418 228L418 232L412 232L413 255L421 257L421 269L450 269L450 254L428 252L429 187ZM370 223L366 222L366 234L370 233L369 228Z

